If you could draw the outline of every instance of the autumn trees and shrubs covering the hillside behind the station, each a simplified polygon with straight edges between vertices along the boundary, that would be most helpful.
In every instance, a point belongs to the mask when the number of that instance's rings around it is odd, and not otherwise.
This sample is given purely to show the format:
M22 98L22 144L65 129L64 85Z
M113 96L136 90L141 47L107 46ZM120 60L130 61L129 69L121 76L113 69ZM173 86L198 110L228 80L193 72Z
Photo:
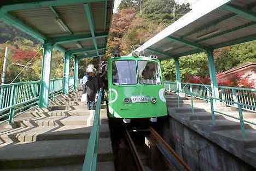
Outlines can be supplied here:
M142 4L140 4L142 2ZM173 16L173 7L176 13ZM123 0L118 13L113 15L112 27L110 28L107 52L103 60L114 53L121 55L130 52L142 45L155 34L188 13L191 9L189 4L177 4L173 0ZM4 48L10 49L7 70L7 82L10 82L33 58L22 74L15 82L38 80L42 61L41 44L18 29L7 26L0 22L0 70L2 74ZM51 78L61 78L63 75L63 53L53 52L53 64ZM248 61L256 61L256 42L248 42L214 51L216 70L218 73L236 67ZM86 61L79 62L79 78L85 73ZM98 58L89 59L88 63L98 66ZM17 65L21 64L21 65ZM70 72L73 75L73 62L71 60ZM175 65L173 60L161 62L161 67L166 80L175 80ZM207 78L209 71L207 57L204 53L184 56L180 59L182 81L188 81L191 75Z

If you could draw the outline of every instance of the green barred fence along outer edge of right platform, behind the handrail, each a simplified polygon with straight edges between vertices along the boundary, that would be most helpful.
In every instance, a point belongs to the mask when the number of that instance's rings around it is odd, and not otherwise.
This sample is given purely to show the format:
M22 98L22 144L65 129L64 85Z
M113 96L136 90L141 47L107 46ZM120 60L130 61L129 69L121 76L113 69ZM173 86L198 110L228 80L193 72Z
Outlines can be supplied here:
M166 90L177 92L176 82L166 81ZM231 107L237 107L237 103L242 104L242 109L256 111L256 89L240 87L219 86L219 97L222 102ZM209 101L211 97L211 86L203 84L191 84L182 82L182 91L187 95L192 92L196 98Z

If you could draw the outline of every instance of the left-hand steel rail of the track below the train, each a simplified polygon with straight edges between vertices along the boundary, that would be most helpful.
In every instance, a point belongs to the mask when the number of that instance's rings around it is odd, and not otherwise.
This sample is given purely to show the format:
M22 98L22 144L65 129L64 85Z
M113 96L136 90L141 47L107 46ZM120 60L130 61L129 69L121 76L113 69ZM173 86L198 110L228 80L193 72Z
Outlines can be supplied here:
M133 158L135 159L135 163L136 163L136 166L137 166L138 170L139 171L146 171L146 169L144 168L144 166L142 164L141 158L139 158L138 152L137 152L135 144L134 144L134 142L131 138L131 135L130 135L129 131L127 131L126 128L125 128L125 137L126 137L126 140L127 140L128 144L130 146L130 149L131 149Z

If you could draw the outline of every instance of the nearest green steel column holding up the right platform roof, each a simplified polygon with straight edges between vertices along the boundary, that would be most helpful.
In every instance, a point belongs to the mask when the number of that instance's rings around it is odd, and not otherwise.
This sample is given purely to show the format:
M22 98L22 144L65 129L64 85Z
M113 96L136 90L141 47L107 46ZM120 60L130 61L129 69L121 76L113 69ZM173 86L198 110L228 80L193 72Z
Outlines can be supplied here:
M210 77L211 77L212 97L219 98L218 82L216 77L213 51L210 51L210 50L207 51L207 57L208 57L208 67L209 67ZM214 100L213 102L216 103L216 100Z

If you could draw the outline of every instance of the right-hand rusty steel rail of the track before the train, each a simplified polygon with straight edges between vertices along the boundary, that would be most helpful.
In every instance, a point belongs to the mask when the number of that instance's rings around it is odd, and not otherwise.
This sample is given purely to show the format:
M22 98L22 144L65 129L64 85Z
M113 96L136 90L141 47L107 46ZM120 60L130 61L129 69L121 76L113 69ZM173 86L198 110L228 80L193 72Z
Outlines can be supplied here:
M164 139L162 139L162 137L155 131L154 128L149 127L149 131L152 133L156 140L159 140L165 146L165 148L174 156L174 158L176 158L176 160L185 168L185 170L192 171L189 166L182 160L182 158L176 154L171 146L168 145Z

